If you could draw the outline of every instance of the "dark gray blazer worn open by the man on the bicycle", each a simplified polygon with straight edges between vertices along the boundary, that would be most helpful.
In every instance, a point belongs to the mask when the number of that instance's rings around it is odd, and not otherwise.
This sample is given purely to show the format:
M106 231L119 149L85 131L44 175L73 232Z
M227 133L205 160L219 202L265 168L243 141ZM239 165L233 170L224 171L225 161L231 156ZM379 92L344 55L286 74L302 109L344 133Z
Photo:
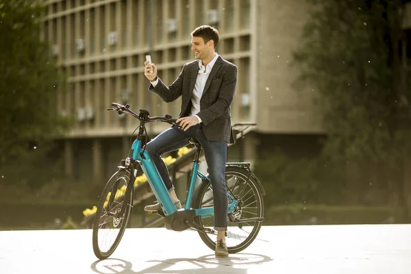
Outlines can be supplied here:
M170 86L164 85L160 78L158 84L149 90L160 96L165 102L175 101L182 95L182 108L179 117L188 116L191 110L191 95L194 90L199 60L184 64L182 72ZM234 143L230 105L237 85L237 66L217 58L204 86L200 99L200 112L204 134L210 141Z

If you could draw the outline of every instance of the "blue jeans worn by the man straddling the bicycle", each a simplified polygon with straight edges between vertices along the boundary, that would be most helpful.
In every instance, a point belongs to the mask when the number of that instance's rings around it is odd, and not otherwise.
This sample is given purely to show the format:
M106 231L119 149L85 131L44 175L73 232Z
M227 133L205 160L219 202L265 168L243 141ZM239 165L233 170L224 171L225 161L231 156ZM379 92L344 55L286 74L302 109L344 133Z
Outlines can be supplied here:
M184 132L183 129L173 126L147 143L146 149L153 160L153 164L166 184L168 190L174 188L169 170L161 159L163 153L175 151L189 144L188 139L197 139L203 148L214 197L214 229L227 228L228 197L225 186L225 164L227 162L227 143L225 141L210 142L204 135L201 125L197 124Z

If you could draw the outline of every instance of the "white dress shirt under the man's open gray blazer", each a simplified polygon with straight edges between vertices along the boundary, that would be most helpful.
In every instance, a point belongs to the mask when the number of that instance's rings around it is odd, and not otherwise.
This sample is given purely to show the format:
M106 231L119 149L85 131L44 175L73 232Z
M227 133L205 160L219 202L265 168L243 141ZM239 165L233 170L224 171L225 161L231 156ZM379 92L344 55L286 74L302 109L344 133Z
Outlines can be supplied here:
M212 67L214 66L217 58L219 58L219 54L215 53L213 60L211 60L210 63L208 63L207 66L203 66L203 62L199 62L199 73L197 74L197 79L195 81L195 86L194 90L192 90L192 95L191 95L191 103L192 107L190 110L190 116L196 116L197 119L199 120L199 123L201 123L201 119L199 116L197 116L197 113L200 112L200 99L201 96L203 95L204 92L204 86L206 86L206 82L208 79L208 76L210 75L210 72L212 70ZM158 78L154 81L151 82L153 87L155 87L158 84Z

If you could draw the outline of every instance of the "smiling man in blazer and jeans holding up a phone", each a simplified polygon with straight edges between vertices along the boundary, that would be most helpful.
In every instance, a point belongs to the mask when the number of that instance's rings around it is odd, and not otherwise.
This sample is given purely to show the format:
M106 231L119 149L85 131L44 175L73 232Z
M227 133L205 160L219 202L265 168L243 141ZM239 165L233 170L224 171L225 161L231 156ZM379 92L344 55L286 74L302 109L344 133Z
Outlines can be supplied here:
M224 174L227 142L234 142L230 105L237 84L237 67L215 52L219 32L214 27L197 27L191 37L191 49L196 60L184 64L182 72L170 86L165 86L157 76L155 64L145 62L145 76L151 82L149 90L166 102L182 96L181 112L177 119L182 128L173 126L167 129L151 140L146 149L179 209L181 203L160 155L188 145L189 138L196 138L201 143L213 188L214 229L217 231L215 254L216 257L227 257L225 230L228 199ZM161 207L156 203L145 210L158 211Z

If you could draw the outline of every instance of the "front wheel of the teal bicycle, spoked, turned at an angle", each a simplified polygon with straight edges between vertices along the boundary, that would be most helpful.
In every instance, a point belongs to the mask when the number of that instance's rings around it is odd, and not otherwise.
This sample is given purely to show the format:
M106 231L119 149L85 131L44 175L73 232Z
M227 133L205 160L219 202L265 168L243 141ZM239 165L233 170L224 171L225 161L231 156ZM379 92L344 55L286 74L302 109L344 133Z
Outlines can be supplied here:
M129 184L129 181L128 171L117 171L101 193L92 228L92 248L101 260L108 258L116 250L132 214L134 184ZM131 195L125 197L129 187L132 188L128 191ZM120 216L124 207L124 214Z

